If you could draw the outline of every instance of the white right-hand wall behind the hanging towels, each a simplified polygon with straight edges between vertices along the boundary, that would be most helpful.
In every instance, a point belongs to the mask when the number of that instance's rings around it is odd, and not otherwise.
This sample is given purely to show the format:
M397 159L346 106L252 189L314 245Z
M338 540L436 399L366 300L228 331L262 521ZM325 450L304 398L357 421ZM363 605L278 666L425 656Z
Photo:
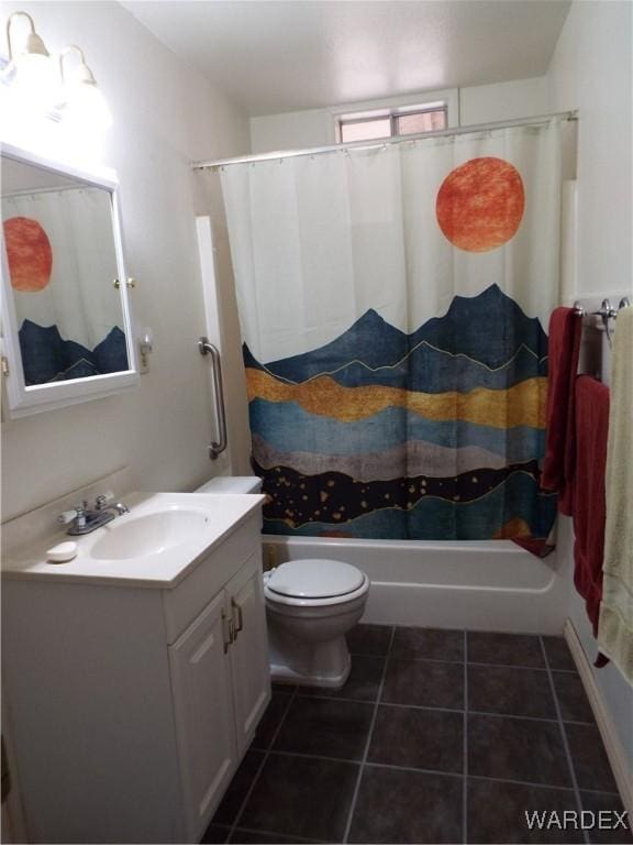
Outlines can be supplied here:
M582 296L633 286L631 13L630 2L576 0L547 74L549 109L579 109L577 290ZM570 559L573 531L569 520L564 523L558 548ZM592 662L596 643L576 592L569 616ZM633 772L633 689L612 665L595 670L595 678Z

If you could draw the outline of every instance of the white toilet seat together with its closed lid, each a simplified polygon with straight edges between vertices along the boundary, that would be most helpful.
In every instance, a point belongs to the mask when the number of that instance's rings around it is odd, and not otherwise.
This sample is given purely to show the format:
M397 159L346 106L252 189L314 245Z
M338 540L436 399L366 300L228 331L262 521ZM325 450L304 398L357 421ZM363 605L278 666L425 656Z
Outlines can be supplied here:
M342 604L364 595L369 579L356 567L338 560L292 560L265 573L264 593L269 602L319 606Z

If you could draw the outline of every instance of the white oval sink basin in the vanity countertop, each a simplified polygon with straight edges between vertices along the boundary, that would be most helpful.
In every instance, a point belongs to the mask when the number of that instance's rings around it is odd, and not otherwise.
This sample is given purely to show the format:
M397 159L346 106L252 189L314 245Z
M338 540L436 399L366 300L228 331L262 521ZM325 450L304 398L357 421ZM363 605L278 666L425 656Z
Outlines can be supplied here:
M127 560L145 558L175 549L200 537L210 523L204 511L170 508L142 516L114 519L106 527L104 536L92 546L90 555L97 560Z

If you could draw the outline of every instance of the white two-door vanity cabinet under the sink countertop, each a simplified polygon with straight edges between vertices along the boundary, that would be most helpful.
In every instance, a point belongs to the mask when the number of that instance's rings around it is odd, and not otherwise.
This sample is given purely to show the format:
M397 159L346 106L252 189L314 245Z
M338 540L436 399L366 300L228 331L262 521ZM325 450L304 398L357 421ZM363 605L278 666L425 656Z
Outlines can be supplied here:
M200 841L270 699L259 531L169 588L4 580L29 841Z

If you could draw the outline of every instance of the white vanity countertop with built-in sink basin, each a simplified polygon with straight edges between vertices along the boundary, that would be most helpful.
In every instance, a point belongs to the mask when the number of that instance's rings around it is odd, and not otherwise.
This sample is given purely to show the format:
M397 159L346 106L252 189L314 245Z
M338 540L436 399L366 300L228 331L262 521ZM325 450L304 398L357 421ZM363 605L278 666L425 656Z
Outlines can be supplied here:
M69 537L58 530L3 556L2 578L170 589L264 500L259 494L131 493L124 497L130 513L91 534ZM46 550L67 540L77 542L77 557L47 561Z

